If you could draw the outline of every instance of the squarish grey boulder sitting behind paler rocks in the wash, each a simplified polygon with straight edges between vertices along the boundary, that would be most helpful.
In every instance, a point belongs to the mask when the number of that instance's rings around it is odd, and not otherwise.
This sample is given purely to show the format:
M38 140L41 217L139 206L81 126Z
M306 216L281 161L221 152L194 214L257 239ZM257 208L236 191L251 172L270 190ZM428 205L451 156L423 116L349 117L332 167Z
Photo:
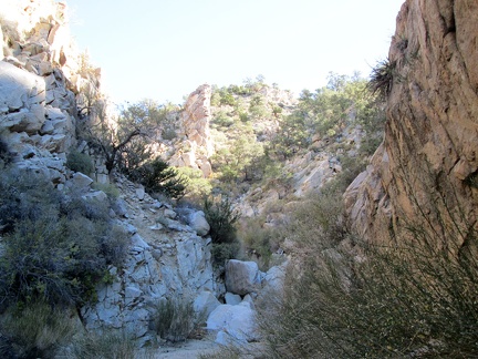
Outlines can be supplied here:
M226 288L232 294L245 296L256 293L261 283L261 274L256 261L230 259L226 265Z

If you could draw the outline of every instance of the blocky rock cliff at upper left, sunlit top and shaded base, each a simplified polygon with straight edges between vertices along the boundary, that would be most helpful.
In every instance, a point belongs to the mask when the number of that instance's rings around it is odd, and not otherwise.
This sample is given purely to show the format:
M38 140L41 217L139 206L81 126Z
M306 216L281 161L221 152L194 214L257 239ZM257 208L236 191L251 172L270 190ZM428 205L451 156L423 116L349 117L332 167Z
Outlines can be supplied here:
M65 4L6 0L0 24L0 140L18 167L64 183L66 153L76 146L77 89L93 81L81 73Z

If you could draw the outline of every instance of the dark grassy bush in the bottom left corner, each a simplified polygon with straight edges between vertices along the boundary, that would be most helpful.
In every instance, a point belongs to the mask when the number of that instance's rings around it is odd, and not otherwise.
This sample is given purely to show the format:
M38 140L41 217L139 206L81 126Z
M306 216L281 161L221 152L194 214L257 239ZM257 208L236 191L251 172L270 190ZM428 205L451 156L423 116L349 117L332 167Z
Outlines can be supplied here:
M45 302L10 307L0 319L0 357L53 358L75 330L72 314Z

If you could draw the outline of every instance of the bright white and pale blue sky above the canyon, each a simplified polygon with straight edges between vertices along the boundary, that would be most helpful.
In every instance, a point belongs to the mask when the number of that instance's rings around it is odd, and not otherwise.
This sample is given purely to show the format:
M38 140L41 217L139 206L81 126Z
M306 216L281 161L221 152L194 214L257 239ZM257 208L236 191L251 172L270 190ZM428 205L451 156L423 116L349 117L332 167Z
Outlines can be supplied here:
M258 75L295 95L368 76L404 0L66 0L73 38L115 103L181 104Z

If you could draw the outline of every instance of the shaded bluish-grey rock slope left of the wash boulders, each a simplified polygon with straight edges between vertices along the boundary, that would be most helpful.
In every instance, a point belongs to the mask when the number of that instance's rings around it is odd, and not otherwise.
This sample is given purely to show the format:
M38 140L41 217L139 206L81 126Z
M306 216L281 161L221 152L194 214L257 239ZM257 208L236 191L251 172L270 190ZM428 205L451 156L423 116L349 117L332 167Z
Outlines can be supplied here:
M160 300L194 301L195 310L207 315L219 305L211 242L176 220L167 205L144 193L139 199L131 182L116 183L124 204L121 223L132 234L129 253L123 268L111 268L112 283L97 287L98 301L82 316L87 329L127 330L145 343L155 336L149 322Z

